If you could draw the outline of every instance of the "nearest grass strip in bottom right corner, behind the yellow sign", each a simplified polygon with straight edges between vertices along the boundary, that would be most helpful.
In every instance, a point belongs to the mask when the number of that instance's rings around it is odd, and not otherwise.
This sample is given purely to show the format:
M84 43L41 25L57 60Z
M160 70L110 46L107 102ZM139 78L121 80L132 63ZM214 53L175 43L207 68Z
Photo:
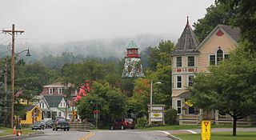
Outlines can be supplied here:
M201 134L174 134L182 140L201 140ZM237 132L237 136L232 136L232 132L214 132L211 140L255 140L256 132Z

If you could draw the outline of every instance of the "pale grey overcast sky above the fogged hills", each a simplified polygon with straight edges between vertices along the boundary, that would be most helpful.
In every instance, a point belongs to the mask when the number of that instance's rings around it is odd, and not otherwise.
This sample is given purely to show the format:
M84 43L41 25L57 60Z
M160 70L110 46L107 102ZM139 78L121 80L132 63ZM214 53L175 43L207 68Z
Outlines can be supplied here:
M0 29L15 24L25 30L17 42L132 39L142 34L176 42L186 16L192 25L211 4L214 0L1 0Z

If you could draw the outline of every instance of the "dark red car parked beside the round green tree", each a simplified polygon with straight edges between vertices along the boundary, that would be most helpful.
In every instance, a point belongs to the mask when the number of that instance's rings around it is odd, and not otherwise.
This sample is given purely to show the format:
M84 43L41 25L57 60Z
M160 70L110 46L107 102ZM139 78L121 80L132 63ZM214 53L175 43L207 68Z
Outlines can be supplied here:
M135 123L132 118L124 118L110 124L110 130L115 130L115 129L124 130L127 128L133 130L134 127L135 127Z

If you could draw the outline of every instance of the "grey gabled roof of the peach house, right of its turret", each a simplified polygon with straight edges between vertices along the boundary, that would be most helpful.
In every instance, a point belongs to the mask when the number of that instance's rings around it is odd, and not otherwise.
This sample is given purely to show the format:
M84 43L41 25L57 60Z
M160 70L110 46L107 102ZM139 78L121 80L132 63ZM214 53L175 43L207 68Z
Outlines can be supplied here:
M205 39L203 39L203 41L195 48L195 50L199 50L201 48L201 46L203 46L203 44L212 36L212 34L215 34L217 32L217 30L222 30L222 32L227 34L231 39L234 40L234 42L239 41L240 28L238 28L238 27L232 28L231 26L219 24L218 26L216 26L214 28L214 30L212 30L210 32L210 34L207 35L207 37Z

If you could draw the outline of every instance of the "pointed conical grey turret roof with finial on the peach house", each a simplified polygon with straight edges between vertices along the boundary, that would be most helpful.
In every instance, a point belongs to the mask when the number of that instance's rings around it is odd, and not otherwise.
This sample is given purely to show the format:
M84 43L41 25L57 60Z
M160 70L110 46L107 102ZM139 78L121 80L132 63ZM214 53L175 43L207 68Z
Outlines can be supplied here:
M175 51L194 50L198 46L198 43L198 38L195 36L190 26L189 17L187 17L186 26L182 32L181 37L178 39Z

